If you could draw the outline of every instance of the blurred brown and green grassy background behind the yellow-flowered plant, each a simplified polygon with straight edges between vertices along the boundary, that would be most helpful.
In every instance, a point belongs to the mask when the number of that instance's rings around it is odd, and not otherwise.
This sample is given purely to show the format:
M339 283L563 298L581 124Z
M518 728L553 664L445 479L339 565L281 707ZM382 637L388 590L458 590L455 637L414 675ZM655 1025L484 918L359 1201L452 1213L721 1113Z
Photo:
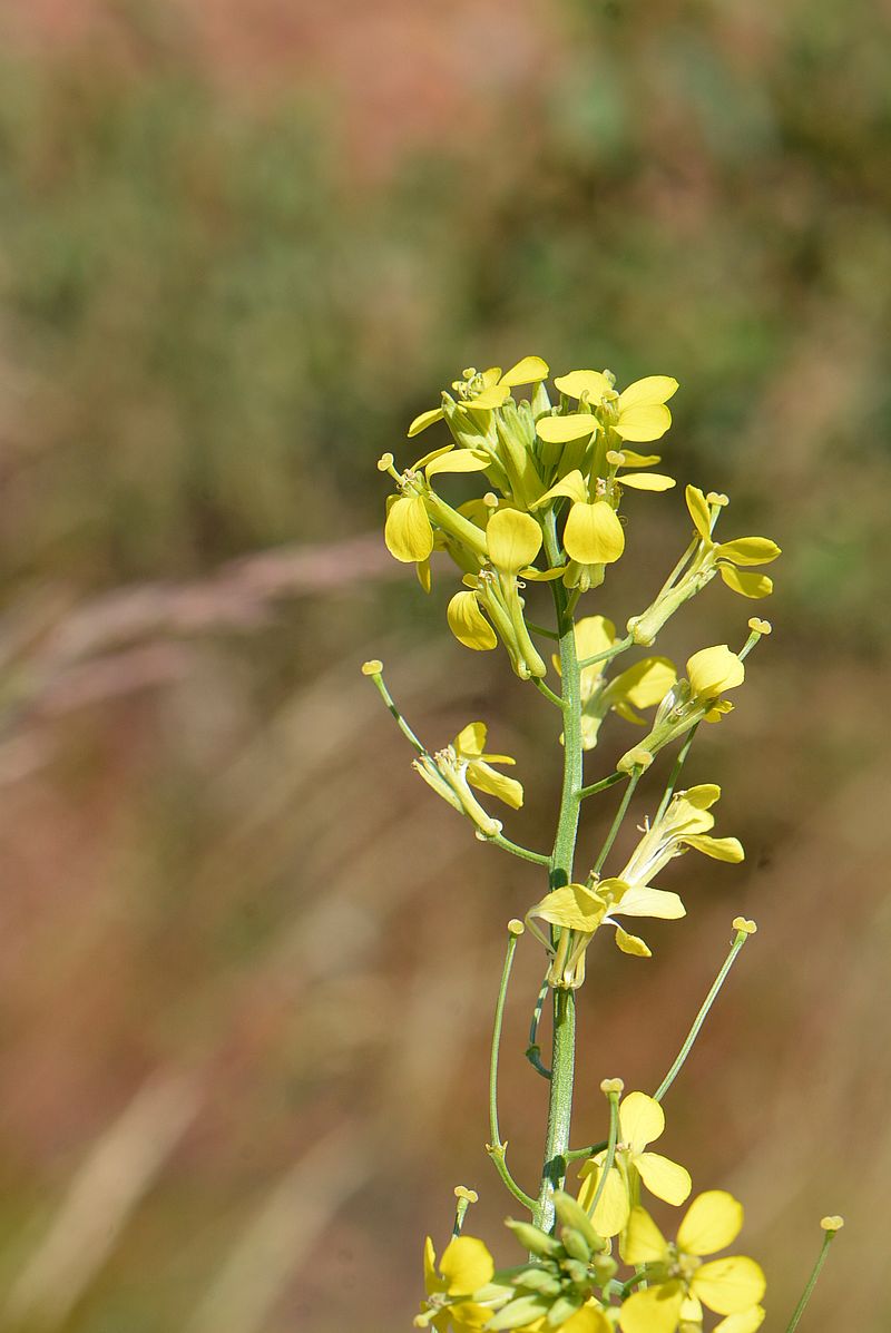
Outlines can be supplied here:
M755 917L664 1150L746 1200L768 1329L836 1210L807 1326L888 1326L890 41L867 0L0 5L3 1330L395 1333L456 1184L511 1260L487 1041L542 884L357 668L431 745L484 717L527 786L507 832L547 844L554 717L454 643L450 577L389 560L375 469L527 353L675 375L668 471L786 549L771 603L712 585L664 636L775 624L687 770L748 856L667 873L690 918L651 961L590 960L578 1142ZM679 493L627 508L590 599L619 623L688 529ZM523 941L527 1186L539 969Z

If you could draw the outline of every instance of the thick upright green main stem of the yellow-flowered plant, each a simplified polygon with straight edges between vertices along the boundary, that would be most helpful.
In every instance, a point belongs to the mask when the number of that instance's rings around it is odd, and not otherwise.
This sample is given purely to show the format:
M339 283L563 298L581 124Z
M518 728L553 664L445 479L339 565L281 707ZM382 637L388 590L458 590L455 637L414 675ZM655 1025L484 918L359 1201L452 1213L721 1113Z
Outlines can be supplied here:
M556 564L558 543L551 516L546 529L546 548L551 564ZM572 860L579 830L579 792L582 790L582 698L579 660L575 649L575 624L567 607L566 591L554 584L554 600L560 631L560 677L563 681L563 790L558 818L554 854L551 857L551 888L560 888L572 880ZM572 1118L572 1080L575 1073L575 992L554 990L554 1038L551 1054L551 1082L548 1098L548 1128L544 1141L542 1188L534 1213L536 1226L550 1232L554 1226L554 1190L563 1185L570 1150L570 1122Z

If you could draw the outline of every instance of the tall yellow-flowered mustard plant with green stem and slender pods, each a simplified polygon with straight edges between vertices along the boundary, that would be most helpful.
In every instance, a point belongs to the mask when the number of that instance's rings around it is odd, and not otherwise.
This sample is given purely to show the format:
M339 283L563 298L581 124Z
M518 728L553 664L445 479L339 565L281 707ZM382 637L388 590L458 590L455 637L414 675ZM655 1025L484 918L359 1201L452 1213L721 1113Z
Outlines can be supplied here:
M743 685L748 656L771 627L752 617L738 648L707 644L683 666L647 649L716 577L742 599L770 596L772 583L763 567L780 551L768 537L726 537L727 496L688 485L690 540L650 604L627 619L624 631L599 609L579 615L583 599L599 599L610 565L624 556L638 492L644 492L644 504L647 492L675 487L674 477L655 471L660 456L635 447L652 447L668 431L667 404L678 381L654 375L619 392L608 371L582 369L555 377L550 391L548 377L538 356L507 373L466 369L439 405L408 429L413 439L431 427L444 428L436 447L403 471L391 453L379 461L393 483L384 528L389 552L415 565L427 592L433 556L456 567L460 588L447 609L455 639L475 652L500 645L518 680L556 710L555 742L563 748L554 842L550 850L535 850L508 838L492 813L494 801L519 810L524 793L506 772L514 758L488 750L486 724L470 721L447 744L428 746L391 697L381 663L363 666L413 748L417 774L471 821L479 840L531 862L546 881L524 920L507 924L490 1062L487 1153L524 1213L507 1222L520 1253L512 1266L496 1269L486 1242L464 1233L476 1194L459 1186L452 1237L439 1260L429 1237L424 1246L425 1296L415 1324L437 1333L700 1333L716 1316L720 1333L754 1333L766 1317L764 1273L754 1258L726 1253L743 1228L743 1205L723 1189L690 1201L688 1170L652 1150L666 1134L663 1100L755 933L754 921L734 920L724 964L655 1090L626 1093L620 1078L604 1078L604 1138L574 1148L570 1130L576 993L586 982L588 954L611 933L628 965L639 966L636 960L650 957L651 949L635 933L636 922L686 916L679 893L654 881L690 852L728 864L744 856L736 837L714 832L720 788L683 788L680 778L700 724L722 722L732 710L728 696ZM480 493L454 503L448 496L455 475L475 476ZM550 587L550 625L530 619L535 584ZM592 777L584 770L586 756L614 721L636 726L639 734L610 772ZM667 776L652 784L658 794L640 836L631 854L612 864L632 796L662 770L663 750ZM596 858L579 869L576 840L592 797L612 801L615 809ZM526 1056L548 1084L542 1172L528 1193L508 1168L498 1102L504 1005L524 934L540 950L544 970ZM538 1033L548 997L552 1037L546 1062ZM684 1209L668 1230L671 1238L651 1216L651 1198ZM843 1222L827 1217L822 1225L824 1244L788 1333Z

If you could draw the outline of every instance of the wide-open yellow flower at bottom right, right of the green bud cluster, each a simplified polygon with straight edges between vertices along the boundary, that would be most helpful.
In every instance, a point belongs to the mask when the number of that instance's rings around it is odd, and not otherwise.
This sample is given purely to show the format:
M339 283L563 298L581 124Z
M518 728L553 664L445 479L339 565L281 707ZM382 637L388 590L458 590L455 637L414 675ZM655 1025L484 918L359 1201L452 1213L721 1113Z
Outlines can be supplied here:
M720 1189L707 1190L692 1201L674 1244L643 1208L634 1208L622 1256L627 1264L643 1265L651 1285L624 1301L619 1316L622 1333L675 1333L682 1310L684 1314L691 1310L686 1306L691 1300L715 1314L730 1316L718 1325L720 1333L758 1328L756 1312L767 1284L755 1260L731 1256L702 1262L703 1256L735 1241L742 1226L743 1205ZM696 1308L692 1305L694 1314Z

